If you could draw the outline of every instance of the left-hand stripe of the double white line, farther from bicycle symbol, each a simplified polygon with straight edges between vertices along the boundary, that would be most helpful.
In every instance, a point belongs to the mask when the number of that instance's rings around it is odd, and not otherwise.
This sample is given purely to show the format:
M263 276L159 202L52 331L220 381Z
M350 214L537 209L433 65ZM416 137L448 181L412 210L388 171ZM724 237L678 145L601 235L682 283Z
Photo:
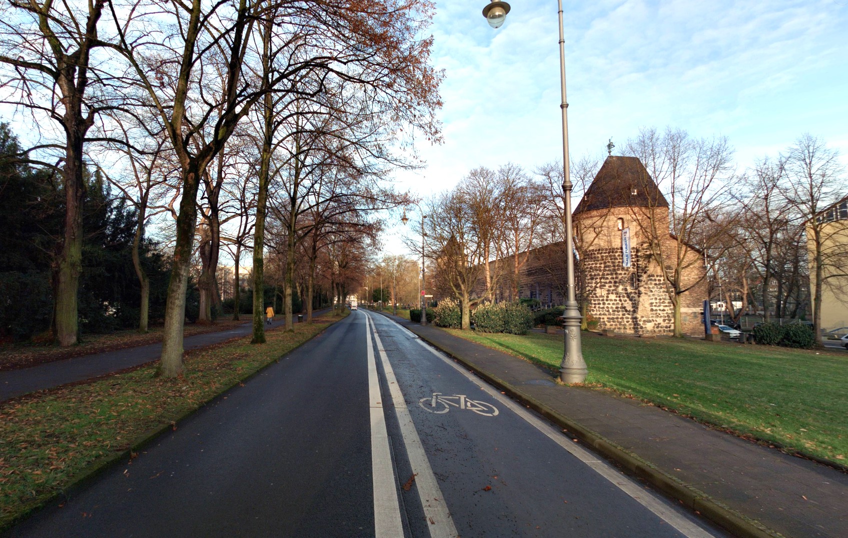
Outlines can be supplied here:
M368 407L371 410L371 477L374 485L374 534L377 538L404 535L400 520L397 482L394 480L392 454L388 446L386 419L382 411L377 361L371 346L369 319L365 316L365 340L368 349Z

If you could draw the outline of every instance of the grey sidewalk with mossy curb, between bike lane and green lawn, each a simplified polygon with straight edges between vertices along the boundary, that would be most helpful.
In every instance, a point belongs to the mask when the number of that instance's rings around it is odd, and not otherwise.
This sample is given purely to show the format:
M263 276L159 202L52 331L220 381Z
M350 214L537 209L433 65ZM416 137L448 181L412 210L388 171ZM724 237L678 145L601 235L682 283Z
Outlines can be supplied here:
M734 535L848 536L848 474L611 391L557 385L548 369L388 317Z

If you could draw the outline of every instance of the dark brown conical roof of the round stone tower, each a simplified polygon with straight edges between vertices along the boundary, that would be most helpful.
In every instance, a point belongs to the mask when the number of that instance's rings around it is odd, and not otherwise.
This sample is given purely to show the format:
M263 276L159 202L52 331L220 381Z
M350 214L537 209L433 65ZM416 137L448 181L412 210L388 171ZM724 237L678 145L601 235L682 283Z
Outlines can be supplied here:
M667 208L668 202L639 158L611 155L594 176L574 214L633 207Z

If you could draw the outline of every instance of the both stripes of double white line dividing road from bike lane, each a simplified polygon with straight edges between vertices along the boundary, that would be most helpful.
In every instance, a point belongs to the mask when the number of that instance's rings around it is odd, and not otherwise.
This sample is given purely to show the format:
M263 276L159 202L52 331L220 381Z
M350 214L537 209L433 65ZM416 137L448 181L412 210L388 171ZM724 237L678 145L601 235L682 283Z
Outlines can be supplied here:
M455 538L457 535L453 519L444 503L442 491L436 477L432 474L430 461L421 445L410 410L406 407L404 395L394 377L392 364L388 362L382 341L374 328L371 316L365 313L365 340L368 349L368 395L371 408L371 469L374 484L374 527L377 538L398 538L404 535L400 518L397 481L394 480L394 468L391 451L388 446L386 418L383 413L380 395L380 379L377 376L377 361L371 344L371 333L377 342L383 372L397 414L400 433L404 440L406 454L410 458L412 472L416 475L415 485L421 498L421 507L427 518L427 528L432 538Z

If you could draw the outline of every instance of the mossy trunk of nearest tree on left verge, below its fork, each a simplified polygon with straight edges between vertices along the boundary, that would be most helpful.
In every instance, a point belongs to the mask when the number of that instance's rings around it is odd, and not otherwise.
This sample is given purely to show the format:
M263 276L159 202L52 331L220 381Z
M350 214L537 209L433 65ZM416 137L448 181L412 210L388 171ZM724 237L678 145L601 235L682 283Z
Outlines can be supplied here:
M162 335L162 358L159 375L182 374L182 330L186 320L186 289L192 266L194 230L197 225L197 196L200 175L205 164L192 160L182 175L180 214L176 218L174 264L170 271L168 296L165 299L165 329Z

